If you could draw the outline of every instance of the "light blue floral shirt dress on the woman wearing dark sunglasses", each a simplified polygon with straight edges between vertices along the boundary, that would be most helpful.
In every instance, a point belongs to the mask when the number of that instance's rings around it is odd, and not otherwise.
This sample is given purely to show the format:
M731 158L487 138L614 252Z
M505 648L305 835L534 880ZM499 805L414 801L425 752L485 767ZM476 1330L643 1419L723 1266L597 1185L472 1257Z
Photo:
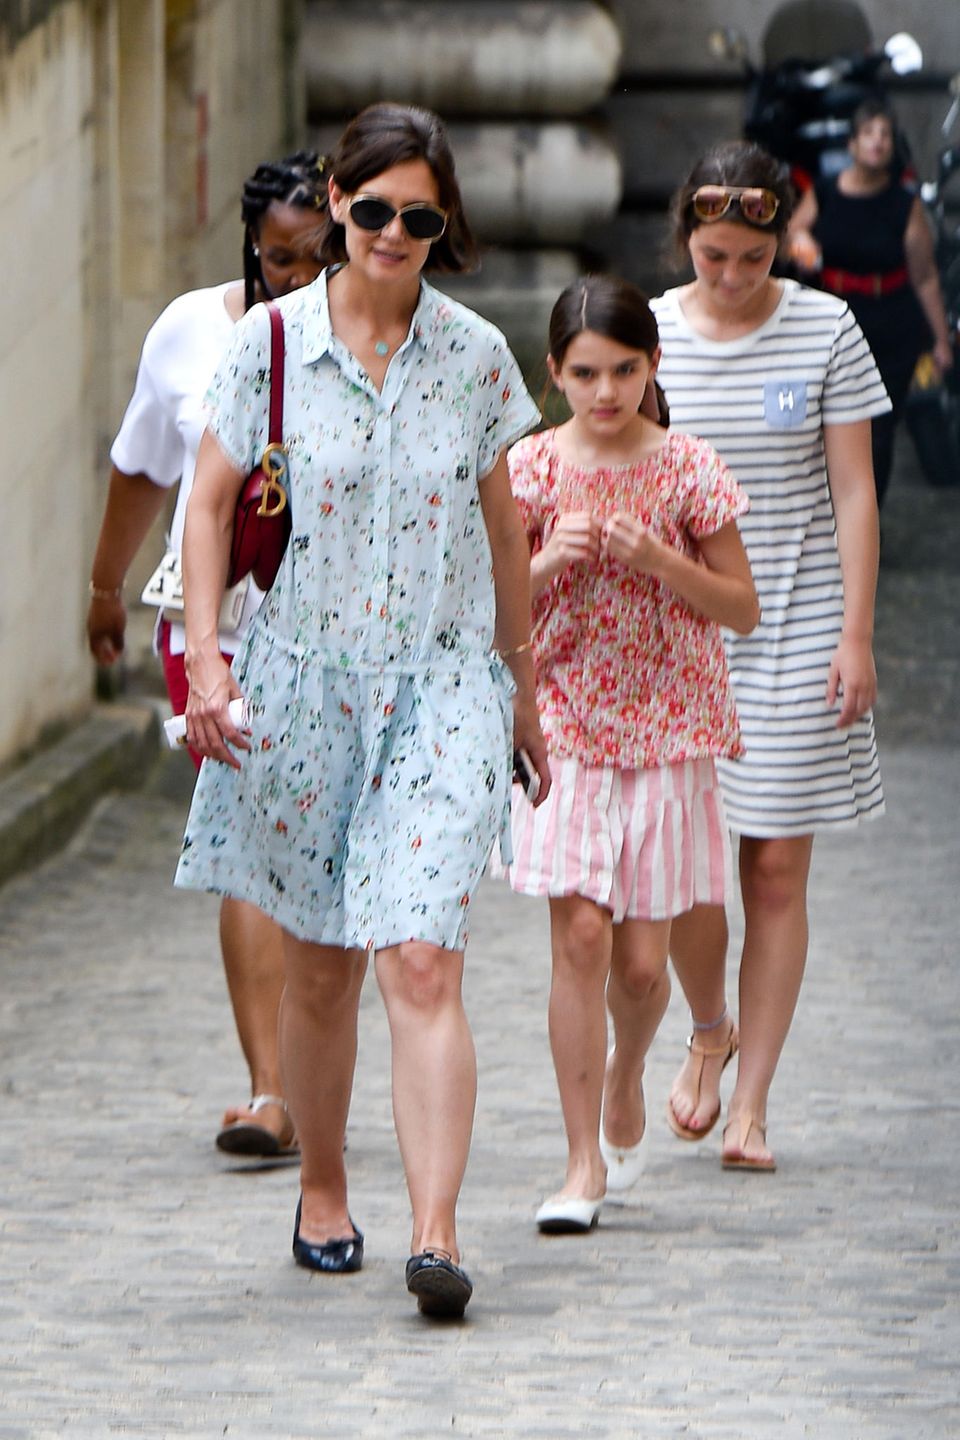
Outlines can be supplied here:
M512 681L491 654L479 485L538 412L504 337L426 282L383 390L330 328L327 275L281 301L291 541L233 671L240 770L204 762L178 886L302 939L461 949L510 825ZM240 469L266 442L263 307L207 395Z

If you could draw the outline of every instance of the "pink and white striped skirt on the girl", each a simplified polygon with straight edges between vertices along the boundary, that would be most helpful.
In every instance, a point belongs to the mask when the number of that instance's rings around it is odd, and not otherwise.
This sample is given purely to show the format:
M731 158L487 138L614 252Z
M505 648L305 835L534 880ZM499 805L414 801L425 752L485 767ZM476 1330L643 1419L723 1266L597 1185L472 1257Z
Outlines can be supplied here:
M586 896L615 922L668 920L725 904L733 857L712 759L651 770L550 762L537 809L514 786L510 883L527 896Z

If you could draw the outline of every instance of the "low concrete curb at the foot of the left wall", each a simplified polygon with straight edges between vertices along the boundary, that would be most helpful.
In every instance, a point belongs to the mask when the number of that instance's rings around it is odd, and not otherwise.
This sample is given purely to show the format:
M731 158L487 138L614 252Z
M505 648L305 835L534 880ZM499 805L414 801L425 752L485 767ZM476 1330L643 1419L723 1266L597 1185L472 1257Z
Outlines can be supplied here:
M98 704L0 780L0 886L60 850L108 791L138 789L161 746L148 701Z

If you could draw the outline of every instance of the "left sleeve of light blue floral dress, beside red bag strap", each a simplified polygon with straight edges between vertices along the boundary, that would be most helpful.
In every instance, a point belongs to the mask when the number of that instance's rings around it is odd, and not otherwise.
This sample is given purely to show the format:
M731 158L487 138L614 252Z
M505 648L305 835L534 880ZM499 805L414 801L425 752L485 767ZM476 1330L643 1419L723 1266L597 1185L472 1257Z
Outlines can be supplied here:
M235 327L203 402L212 435L237 469L253 469L263 454L269 403L269 318L265 305L255 305Z

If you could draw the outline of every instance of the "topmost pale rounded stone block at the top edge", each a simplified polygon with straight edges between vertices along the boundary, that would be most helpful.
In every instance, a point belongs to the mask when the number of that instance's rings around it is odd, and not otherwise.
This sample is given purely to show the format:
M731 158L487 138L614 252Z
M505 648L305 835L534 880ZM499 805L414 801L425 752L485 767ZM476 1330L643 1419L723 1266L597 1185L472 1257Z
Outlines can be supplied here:
M577 115L610 89L620 33L592 0L314 0L311 118L377 99L443 115Z

